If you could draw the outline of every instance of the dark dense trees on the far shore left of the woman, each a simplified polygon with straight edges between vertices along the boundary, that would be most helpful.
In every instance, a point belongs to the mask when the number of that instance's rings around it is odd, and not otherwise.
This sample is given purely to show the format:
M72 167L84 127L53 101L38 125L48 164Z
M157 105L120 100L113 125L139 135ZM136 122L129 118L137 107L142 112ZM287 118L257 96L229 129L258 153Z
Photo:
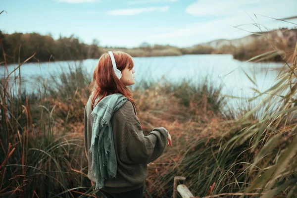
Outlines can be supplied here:
M3 34L0 32L3 48L5 49L6 61L8 63L20 62L32 56L30 61L54 61L54 60L78 60L97 58L102 54L99 42L87 45L73 35L70 37L59 37L54 40L51 35L40 35L38 33L13 33ZM0 45L0 61L4 60L2 46Z

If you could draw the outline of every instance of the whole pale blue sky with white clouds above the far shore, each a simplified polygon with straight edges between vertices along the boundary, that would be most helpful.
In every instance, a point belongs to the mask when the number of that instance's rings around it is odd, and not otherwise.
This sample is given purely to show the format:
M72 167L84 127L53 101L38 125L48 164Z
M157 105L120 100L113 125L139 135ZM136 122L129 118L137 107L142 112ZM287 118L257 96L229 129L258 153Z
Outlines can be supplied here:
M276 20L297 16L297 0L0 0L2 10L4 33L74 35L109 47L191 47L297 28L297 19Z

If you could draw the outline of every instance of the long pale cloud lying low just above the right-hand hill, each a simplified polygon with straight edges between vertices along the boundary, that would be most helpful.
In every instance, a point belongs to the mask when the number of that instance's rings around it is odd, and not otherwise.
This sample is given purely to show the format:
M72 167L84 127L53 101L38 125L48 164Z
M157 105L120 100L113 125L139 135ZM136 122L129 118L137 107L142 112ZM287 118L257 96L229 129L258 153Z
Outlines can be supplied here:
M253 17L254 20L255 17ZM262 20L264 19L264 20ZM261 24L261 30L278 29L281 27L294 27L295 25L277 20L267 20L266 17L258 17L258 22ZM257 22L257 21L256 21ZM290 20L290 22L297 23L297 19ZM240 24L249 24L235 28L234 26ZM295 26L297 27L297 26ZM248 15L241 17L227 17L218 20L212 20L203 23L187 24L182 28L166 31L161 34L154 34L148 36L151 43L175 43L178 46L191 46L199 43L206 43L216 39L236 39L245 37L250 32L260 32L260 29L253 24Z

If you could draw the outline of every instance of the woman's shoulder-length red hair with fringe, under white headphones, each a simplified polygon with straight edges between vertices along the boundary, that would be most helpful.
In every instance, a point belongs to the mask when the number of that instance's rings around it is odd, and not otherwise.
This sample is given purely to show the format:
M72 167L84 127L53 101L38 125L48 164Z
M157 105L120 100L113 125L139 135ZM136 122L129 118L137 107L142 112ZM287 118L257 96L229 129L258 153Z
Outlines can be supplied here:
M128 53L122 51L112 51L116 67L118 70L122 71L127 66L130 66L131 69L134 67L134 62L132 56ZM103 53L98 61L98 64L95 68L93 81L90 84L91 93L94 91L92 97L92 110L98 104L98 102L106 96L120 93L123 96L127 97L133 104L135 108L135 100L132 98L131 91L118 79L113 71L113 66L111 62L110 55L108 53ZM95 100L98 96L101 95L97 103L94 105Z

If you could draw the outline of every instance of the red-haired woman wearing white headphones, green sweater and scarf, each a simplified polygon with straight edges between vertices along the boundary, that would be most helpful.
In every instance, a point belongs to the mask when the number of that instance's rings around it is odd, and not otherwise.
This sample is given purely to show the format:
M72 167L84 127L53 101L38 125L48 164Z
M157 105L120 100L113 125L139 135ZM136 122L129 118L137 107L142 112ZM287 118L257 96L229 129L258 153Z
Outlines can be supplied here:
M125 52L102 54L85 106L88 178L107 198L142 198L148 163L172 145L164 127L144 135L127 88L135 83L133 67L132 57Z

